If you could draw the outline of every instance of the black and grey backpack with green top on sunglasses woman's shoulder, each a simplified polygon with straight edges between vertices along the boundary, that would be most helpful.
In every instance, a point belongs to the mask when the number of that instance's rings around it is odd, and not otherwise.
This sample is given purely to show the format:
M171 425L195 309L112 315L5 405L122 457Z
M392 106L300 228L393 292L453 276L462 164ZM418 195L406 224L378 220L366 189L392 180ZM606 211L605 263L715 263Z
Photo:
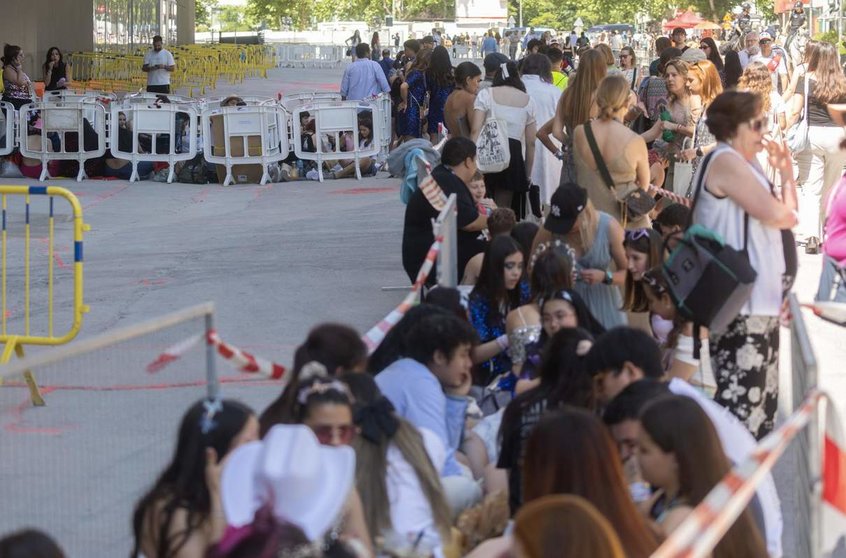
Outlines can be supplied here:
M749 262L749 214L743 215L743 248L737 250L707 227L691 225L693 212L713 157L709 153L697 175L688 226L662 265L670 296L679 313L695 325L720 333L737 317L752 296L757 272ZM669 248L668 244L664 246Z

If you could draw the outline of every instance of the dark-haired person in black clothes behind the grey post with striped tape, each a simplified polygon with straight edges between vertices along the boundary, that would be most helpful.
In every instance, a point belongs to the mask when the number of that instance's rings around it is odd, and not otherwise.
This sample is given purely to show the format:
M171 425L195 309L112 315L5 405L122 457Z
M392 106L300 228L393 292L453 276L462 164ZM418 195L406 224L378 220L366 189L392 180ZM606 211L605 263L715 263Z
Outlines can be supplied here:
M468 260L484 251L485 241L479 239L487 228L488 218L479 214L467 184L476 173L476 144L467 138L452 138L444 144L441 164L432 170L432 177L446 196L456 195L458 216L458 272L463 273ZM432 220L438 217L436 209L418 188L408 200L405 209L405 226L402 234L402 265L413 283L420 266L426 259L435 236ZM427 284L434 284L437 277L433 269Z

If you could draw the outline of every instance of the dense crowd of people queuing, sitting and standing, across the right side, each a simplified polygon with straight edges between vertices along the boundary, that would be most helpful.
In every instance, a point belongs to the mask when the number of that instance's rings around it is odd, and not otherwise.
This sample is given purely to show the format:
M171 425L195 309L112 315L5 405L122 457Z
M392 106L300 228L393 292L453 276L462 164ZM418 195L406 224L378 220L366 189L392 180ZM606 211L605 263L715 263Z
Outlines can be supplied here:
M443 39L373 60L374 39L352 46L342 94L390 92L398 150L442 143L431 176L456 198L463 284L430 274L372 354L317 326L261 412L187 409L127 518L132 556L650 556L775 427L797 240L824 253L817 296L846 301L836 47L812 41L782 73L767 34L723 58L677 29L653 61L618 40L571 66L539 37L482 70L453 67ZM481 172L492 119L507 163ZM803 149L786 142L796 122ZM414 282L439 211L407 194ZM754 271L710 330L667 273L695 230ZM712 555L782 556L781 534L768 476ZM16 533L0 556L53 544Z

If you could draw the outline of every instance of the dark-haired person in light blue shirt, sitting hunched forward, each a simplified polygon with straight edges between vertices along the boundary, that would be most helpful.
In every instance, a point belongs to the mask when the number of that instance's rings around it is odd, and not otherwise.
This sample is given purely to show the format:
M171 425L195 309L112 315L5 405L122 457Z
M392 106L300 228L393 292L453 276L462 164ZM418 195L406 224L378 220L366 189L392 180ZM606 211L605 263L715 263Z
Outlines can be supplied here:
M397 414L419 429L434 432L446 448L439 473L456 514L481 498L481 489L470 470L459 463L458 452L471 386L470 351L476 340L470 324L439 309L409 329L406 358L376 376Z

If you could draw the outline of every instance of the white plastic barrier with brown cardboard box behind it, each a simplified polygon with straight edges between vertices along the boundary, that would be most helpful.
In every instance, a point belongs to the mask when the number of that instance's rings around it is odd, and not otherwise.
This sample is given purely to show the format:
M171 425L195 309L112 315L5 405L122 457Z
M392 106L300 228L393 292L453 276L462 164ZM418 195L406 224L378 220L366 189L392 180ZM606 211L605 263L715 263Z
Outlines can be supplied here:
M286 132L288 114L281 106L208 107L202 129L211 134L203 152L206 161L224 165L223 185L234 182L234 165L261 165L260 184L270 181L267 166L291 152Z

